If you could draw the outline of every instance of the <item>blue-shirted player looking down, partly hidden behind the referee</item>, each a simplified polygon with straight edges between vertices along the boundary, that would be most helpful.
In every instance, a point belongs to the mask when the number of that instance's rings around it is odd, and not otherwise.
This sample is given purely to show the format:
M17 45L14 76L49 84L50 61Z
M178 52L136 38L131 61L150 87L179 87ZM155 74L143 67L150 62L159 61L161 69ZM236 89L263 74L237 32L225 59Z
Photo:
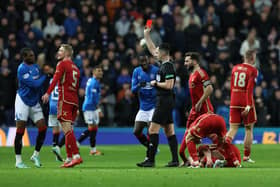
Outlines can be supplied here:
M155 109L156 88L150 85L156 79L158 67L149 64L148 56L140 54L140 66L135 68L132 75L131 90L138 95L140 109L136 115L133 133L138 141L147 148L146 158L148 157L148 139L143 134L143 129L148 127Z

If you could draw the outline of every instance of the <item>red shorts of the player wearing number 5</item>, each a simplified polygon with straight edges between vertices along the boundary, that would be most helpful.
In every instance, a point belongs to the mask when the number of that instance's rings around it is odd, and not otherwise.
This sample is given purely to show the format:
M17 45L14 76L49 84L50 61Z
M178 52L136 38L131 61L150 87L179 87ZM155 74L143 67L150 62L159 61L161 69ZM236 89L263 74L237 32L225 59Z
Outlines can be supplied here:
M63 101L58 102L57 119L59 121L73 123L77 117L78 107Z

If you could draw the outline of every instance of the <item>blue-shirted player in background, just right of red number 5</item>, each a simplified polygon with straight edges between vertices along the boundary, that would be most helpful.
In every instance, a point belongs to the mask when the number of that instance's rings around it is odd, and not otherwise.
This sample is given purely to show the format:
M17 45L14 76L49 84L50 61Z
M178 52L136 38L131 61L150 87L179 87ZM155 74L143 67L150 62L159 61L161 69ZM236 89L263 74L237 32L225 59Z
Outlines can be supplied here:
M103 155L96 149L96 134L98 130L99 117L102 116L101 110L98 108L100 100L100 79L103 77L102 67L97 65L92 70L93 76L88 79L85 92L85 100L83 103L83 113L88 129L85 130L78 139L81 143L88 136L90 140L90 155Z

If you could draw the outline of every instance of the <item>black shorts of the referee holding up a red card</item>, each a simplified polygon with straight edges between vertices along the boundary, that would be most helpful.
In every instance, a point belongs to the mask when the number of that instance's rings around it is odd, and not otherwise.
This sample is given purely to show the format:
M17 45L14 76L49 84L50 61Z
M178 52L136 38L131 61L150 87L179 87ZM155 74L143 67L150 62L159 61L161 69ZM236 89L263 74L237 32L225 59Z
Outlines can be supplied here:
M152 122L162 126L173 123L172 110L174 107L173 95L157 96L155 111L152 117Z

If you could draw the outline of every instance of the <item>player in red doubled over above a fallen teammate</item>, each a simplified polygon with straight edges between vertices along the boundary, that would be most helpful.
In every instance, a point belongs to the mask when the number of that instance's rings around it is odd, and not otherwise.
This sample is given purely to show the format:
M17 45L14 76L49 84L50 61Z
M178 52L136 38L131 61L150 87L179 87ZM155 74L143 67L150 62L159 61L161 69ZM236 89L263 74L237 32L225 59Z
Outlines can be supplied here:
M224 142L226 132L226 123L221 116L209 113L199 116L187 130L185 139L189 154L192 158L191 165L193 167L199 167L200 163L196 144L198 144L202 138L208 137L211 138L213 143L217 146L222 146L225 151L232 156L235 165L239 166L239 161L231 149L231 144ZM213 136L213 134L215 134L215 136Z

